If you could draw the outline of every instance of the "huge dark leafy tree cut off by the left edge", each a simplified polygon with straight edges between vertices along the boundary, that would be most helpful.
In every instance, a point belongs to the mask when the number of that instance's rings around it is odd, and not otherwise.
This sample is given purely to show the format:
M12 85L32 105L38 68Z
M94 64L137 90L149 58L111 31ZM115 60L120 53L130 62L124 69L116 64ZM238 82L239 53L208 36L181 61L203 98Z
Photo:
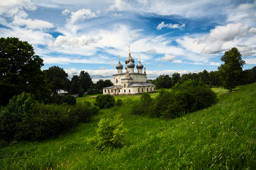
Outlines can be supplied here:
M42 62L28 42L15 37L0 39L0 105L22 92L32 93L37 100L48 96Z

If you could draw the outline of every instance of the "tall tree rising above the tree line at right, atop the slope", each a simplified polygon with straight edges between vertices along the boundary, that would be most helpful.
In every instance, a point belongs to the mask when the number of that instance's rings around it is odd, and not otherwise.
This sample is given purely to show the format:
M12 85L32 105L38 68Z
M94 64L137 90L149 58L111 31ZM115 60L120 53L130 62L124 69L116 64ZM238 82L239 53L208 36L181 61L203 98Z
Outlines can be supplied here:
M230 89L230 92L232 92L232 88L236 88L241 82L241 72L245 61L242 60L241 54L236 47L226 51L220 59L225 63L218 67L219 78L223 87Z

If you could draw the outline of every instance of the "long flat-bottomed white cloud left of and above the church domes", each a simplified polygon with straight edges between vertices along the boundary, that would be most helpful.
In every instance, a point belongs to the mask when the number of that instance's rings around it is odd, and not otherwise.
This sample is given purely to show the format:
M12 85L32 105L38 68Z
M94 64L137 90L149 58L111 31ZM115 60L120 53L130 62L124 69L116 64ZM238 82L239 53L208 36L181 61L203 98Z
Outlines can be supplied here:
M76 36L68 38L67 36L58 36L55 42L50 43L50 47L62 47L64 49L68 49L71 47L82 47L83 45L89 45L91 43L97 43L102 39L102 36L98 36L94 38L92 36Z

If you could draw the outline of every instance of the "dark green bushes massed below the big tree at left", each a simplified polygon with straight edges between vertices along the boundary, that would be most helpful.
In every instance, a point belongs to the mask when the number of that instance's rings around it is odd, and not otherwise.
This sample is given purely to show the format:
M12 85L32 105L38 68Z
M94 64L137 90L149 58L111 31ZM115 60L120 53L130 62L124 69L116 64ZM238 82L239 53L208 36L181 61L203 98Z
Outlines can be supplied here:
M68 103L68 102L67 102ZM0 114L0 136L5 141L39 141L89 122L99 109L90 104L40 104L29 93L14 96Z

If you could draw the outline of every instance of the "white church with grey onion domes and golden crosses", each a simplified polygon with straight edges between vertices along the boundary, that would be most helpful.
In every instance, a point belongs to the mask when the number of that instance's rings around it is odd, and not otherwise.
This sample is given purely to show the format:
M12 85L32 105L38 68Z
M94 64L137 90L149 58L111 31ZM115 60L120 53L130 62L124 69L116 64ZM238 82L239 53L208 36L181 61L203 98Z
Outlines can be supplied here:
M119 58L119 63L116 65L117 74L113 75L113 86L103 88L103 94L130 95L143 92L149 93L156 90L156 86L147 81L146 67L140 63L140 59L136 66L138 72L135 72L135 60L132 58L130 50L125 63L127 66L125 67L126 71L123 73L124 66L121 65Z

